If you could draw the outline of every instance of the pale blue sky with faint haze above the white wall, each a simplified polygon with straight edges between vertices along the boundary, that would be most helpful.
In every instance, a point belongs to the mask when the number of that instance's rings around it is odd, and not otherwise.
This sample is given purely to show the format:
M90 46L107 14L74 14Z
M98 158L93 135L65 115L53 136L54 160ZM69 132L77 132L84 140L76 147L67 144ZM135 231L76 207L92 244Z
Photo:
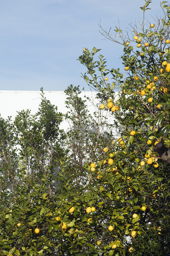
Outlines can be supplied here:
M81 77L85 67L77 60L83 47L101 49L108 68L123 71L122 46L103 40L103 28L142 19L136 0L1 0L0 90L64 91L68 85L89 87ZM153 0L147 19L160 17L160 1Z

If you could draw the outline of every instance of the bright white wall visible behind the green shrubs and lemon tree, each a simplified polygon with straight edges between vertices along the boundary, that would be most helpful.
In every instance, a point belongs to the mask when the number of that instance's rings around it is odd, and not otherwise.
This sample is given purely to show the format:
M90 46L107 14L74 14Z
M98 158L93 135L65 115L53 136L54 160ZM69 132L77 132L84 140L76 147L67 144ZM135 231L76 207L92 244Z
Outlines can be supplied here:
M65 107L66 95L62 91L44 91L47 100L50 100L52 104L58 107L58 111L63 114L68 111ZM88 110L93 116L94 110L98 110L100 103L95 99L96 92L81 92L81 97L89 97L94 99L94 105L87 102ZM3 118L12 116L12 119L17 115L17 111L30 109L31 114L35 114L38 111L39 104L41 102L40 91L0 91L0 114ZM109 122L113 122L113 117L109 114L109 111L104 111L104 115L107 115ZM60 128L65 131L69 127L66 121L63 121Z

